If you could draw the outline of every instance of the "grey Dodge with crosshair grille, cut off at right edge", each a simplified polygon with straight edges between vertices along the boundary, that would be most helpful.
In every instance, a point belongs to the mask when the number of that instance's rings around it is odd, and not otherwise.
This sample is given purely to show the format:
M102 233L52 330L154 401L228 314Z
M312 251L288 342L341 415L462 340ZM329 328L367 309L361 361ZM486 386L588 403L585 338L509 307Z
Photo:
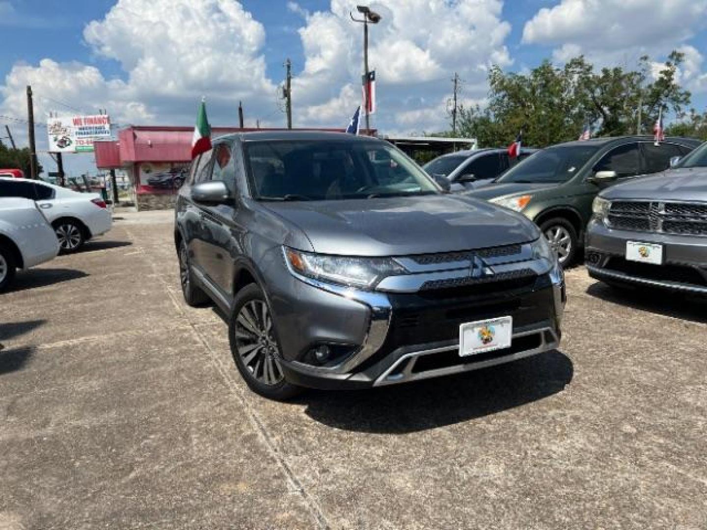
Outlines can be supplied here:
M669 172L604 190L593 211L592 278L707 295L707 143Z

